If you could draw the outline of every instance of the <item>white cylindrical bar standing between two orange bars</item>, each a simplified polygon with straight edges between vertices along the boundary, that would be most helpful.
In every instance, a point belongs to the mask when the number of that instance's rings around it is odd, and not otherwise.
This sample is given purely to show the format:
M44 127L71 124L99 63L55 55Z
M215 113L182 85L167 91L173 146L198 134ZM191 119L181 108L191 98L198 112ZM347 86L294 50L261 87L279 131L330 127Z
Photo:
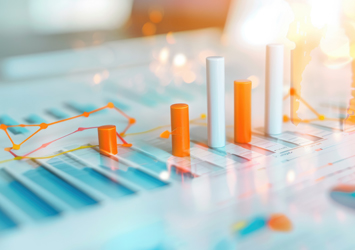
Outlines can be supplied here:
M226 145L224 57L206 58L208 146Z

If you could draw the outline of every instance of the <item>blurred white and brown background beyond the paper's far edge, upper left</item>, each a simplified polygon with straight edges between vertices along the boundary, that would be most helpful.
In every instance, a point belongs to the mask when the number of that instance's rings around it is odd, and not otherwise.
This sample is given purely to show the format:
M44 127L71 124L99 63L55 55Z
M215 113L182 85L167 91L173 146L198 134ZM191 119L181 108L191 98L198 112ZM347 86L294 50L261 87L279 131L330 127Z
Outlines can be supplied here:
M0 0L0 59L208 27L231 0Z

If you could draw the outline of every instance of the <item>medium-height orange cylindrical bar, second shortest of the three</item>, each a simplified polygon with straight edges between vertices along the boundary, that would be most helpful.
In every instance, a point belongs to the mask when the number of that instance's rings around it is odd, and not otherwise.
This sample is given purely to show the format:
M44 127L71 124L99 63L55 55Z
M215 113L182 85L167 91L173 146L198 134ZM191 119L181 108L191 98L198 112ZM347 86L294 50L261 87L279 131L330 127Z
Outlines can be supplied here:
M190 155L189 106L177 103L170 106L173 155Z

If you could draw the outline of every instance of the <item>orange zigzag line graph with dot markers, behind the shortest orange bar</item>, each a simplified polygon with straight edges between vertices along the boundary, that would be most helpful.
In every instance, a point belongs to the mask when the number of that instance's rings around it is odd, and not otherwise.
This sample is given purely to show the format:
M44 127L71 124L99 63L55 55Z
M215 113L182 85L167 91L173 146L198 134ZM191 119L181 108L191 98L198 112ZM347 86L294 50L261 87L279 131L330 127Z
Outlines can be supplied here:
M120 113L122 116L124 116L125 118L127 118L128 120L128 125L127 127L124 129L124 131L121 133L121 134L124 134L135 122L136 120L130 116L128 116L126 113L124 113L122 110L118 109L115 107L115 105L112 103L112 102L109 102L106 106L103 106L101 108L98 108L98 109L95 109L93 111L90 111L90 112L84 112L82 113L81 115L77 115L77 116L73 116L73 117L70 117L70 118L67 118L67 119L63 119L63 120L59 120L59 121L56 121L56 122L51 122L51 123L41 123L41 124L19 124L19 125L5 125L5 124L1 124L0 125L0 129L3 130L5 132L5 134L7 135L7 137L9 138L9 140L11 141L12 143L12 148L5 148L6 151L10 151L11 149L14 149L14 150L19 150L21 148L21 146L26 142L28 141L30 138L32 138L34 135L36 135L38 132L44 130L44 129L47 129L48 127L52 126L52 125L55 125L55 124L58 124L58 123L62 123L62 122L65 122L65 121L70 121L70 120L74 120L74 119L77 119L79 117L89 117L91 114L93 113L96 113L96 112L99 112L101 110L104 110L104 109L114 109L116 110L118 113ZM33 134L31 134L29 137L27 137L25 140L23 140L21 143L19 144L16 144L13 139L11 138L11 136L9 135L8 133L8 128L14 128L14 127L39 127L38 130L36 130Z

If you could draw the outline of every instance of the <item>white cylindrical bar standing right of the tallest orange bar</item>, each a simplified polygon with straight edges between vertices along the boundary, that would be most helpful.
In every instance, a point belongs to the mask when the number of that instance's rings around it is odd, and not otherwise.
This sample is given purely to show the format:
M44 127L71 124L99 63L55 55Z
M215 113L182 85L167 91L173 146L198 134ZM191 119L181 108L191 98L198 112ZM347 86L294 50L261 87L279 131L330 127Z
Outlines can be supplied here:
M265 73L265 133L269 135L282 133L283 65L283 44L267 45Z

